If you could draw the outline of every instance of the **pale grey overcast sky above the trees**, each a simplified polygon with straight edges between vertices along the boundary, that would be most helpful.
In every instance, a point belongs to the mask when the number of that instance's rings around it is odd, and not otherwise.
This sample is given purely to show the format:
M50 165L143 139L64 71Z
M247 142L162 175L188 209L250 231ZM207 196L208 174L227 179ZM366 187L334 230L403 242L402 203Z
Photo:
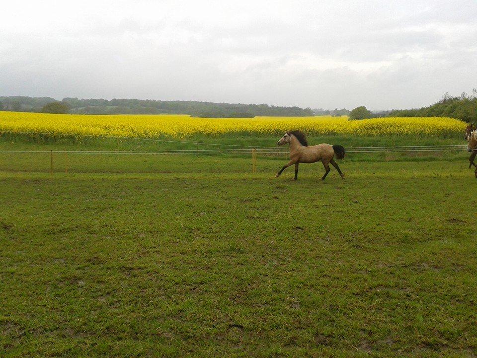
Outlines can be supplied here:
M1 4L0 95L410 108L477 87L477 1Z

